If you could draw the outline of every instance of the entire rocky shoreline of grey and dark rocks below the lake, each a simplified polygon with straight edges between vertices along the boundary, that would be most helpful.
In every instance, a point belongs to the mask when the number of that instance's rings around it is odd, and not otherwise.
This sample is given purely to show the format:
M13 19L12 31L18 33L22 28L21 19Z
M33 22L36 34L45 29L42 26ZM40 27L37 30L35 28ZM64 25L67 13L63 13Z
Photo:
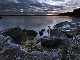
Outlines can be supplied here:
M43 34L45 29L41 31L41 34ZM80 22L66 21L58 23L53 26L50 34L50 36L44 36L35 42L35 45L41 43L41 49L33 50L33 46L35 46L33 40L37 35L36 31L22 30L20 27L1 31L0 60L80 59ZM32 51L28 52L22 49L21 44L25 42L30 42L29 47Z

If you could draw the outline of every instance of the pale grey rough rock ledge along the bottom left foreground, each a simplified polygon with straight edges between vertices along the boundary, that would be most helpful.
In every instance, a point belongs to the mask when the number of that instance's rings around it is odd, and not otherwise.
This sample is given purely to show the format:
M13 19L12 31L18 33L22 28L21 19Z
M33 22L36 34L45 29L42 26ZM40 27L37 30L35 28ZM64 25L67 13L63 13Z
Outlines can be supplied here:
M0 35L0 60L60 60L61 50L26 52L11 37Z

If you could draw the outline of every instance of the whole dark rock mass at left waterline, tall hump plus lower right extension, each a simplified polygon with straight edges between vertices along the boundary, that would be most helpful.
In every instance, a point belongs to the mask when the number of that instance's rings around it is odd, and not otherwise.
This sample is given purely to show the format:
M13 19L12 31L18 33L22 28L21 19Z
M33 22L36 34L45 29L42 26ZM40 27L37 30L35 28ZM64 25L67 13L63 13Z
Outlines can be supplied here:
M4 36L10 36L15 43L21 44L21 42L27 41L29 36L35 37L37 32L34 30L22 30L20 27L14 27L1 31L0 34Z

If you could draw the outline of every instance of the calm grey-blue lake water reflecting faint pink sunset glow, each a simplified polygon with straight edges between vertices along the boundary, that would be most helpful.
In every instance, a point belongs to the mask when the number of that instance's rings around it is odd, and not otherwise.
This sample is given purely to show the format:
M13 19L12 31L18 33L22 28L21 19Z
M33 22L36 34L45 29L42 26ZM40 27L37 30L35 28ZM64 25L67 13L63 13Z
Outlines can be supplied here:
M67 16L3 16L0 19L0 30L20 26L22 29L31 29L38 32L41 29L47 30L48 26L53 27L55 24L64 21L71 22L72 18ZM48 34L44 33L44 35Z

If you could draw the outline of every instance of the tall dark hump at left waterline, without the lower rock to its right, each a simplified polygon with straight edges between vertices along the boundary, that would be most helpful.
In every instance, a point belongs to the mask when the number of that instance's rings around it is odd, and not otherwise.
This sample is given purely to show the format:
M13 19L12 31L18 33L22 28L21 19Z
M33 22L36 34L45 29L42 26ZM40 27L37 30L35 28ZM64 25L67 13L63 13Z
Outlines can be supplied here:
M18 44L20 44L22 41L26 41L27 39L26 34L20 27L7 29L4 32L1 32L1 35L10 36L14 42Z

